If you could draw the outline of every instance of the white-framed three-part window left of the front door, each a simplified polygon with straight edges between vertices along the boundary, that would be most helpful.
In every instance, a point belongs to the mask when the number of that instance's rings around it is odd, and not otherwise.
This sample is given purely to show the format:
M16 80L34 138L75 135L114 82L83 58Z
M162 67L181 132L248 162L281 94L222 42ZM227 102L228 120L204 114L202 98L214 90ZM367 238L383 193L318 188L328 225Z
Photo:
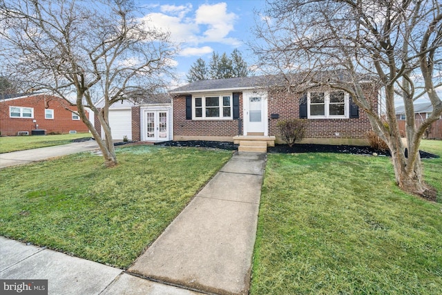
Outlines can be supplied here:
M198 95L193 97L193 119L232 119L231 95Z

